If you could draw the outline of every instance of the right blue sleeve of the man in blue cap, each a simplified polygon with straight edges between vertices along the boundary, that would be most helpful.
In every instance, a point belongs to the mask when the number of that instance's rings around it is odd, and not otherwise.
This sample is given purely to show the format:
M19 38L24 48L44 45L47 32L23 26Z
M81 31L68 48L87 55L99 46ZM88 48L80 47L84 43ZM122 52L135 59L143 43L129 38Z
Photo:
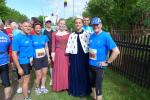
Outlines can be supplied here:
M112 50L113 48L117 47L115 41L112 39L109 33L107 33L106 41L108 50Z

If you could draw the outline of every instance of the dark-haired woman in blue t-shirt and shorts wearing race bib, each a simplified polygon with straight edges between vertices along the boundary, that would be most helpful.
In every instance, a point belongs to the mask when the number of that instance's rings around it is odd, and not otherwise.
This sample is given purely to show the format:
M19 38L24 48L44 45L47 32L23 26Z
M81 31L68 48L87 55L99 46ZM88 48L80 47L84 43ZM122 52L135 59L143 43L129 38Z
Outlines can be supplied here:
M33 43L33 67L36 73L36 88L37 95L41 93L48 93L48 89L45 88L45 81L48 71L48 63L50 62L49 49L48 49L48 37L41 34L42 25L35 23L33 26L36 34L32 36Z

